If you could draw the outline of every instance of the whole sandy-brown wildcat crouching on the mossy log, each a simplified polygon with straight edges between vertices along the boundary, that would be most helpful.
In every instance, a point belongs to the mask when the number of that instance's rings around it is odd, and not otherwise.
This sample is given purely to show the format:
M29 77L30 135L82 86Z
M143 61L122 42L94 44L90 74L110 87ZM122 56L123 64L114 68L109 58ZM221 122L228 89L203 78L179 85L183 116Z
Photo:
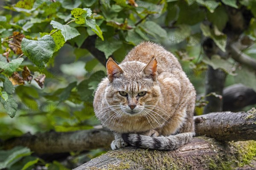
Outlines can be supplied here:
M160 45L142 42L117 65L94 95L94 111L113 131L113 150L128 144L172 150L192 139L195 89L177 58Z

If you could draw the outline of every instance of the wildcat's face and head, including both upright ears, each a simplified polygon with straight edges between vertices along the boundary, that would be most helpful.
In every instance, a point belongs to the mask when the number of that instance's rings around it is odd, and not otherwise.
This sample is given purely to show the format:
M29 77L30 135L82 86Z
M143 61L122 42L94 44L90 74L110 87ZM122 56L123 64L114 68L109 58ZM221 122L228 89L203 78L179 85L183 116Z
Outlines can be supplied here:
M108 59L109 84L105 98L115 112L139 115L152 110L161 96L157 82L157 59L154 57L145 65L132 61L117 65Z

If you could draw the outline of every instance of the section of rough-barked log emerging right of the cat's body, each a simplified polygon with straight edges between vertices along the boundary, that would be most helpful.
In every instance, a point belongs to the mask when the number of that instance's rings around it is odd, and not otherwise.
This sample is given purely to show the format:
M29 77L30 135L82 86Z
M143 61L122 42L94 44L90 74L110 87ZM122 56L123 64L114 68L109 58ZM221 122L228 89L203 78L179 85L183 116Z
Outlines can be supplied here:
M256 140L256 109L247 113L218 112L194 116L197 136L221 141Z

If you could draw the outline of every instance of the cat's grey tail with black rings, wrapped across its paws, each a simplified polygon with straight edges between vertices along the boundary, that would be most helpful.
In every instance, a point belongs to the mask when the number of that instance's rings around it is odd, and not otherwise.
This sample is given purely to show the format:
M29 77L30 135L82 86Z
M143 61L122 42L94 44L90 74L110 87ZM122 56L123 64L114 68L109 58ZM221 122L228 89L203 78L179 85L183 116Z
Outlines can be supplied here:
M124 133L122 139L132 146L149 149L173 150L190 142L195 133L186 132L170 136L150 137L140 134Z

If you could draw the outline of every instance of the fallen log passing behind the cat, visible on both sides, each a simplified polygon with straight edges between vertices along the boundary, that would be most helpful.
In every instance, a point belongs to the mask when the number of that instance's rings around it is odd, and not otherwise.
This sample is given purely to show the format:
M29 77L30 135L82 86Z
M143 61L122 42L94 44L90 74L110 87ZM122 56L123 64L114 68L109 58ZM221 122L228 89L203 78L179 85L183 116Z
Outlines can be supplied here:
M256 140L256 109L245 112L219 112L195 116L196 136L207 135L218 140ZM10 149L17 145L29 147L35 153L65 153L76 150L110 148L114 139L107 129L76 132L47 132L26 134L4 141L1 146Z

